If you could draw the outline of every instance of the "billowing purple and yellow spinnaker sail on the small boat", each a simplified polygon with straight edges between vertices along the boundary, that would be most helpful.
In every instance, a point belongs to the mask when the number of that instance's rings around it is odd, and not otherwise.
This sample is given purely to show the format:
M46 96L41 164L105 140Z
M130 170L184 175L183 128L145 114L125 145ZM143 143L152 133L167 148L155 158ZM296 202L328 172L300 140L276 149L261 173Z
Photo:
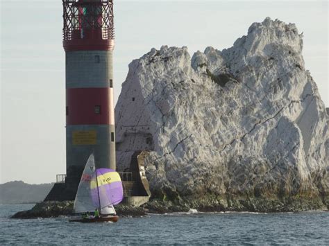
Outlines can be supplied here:
M96 170L97 180L94 178L91 187L92 201L95 207L103 208L119 204L124 199L124 191L119 173L108 168ZM99 204L99 202L101 202Z

